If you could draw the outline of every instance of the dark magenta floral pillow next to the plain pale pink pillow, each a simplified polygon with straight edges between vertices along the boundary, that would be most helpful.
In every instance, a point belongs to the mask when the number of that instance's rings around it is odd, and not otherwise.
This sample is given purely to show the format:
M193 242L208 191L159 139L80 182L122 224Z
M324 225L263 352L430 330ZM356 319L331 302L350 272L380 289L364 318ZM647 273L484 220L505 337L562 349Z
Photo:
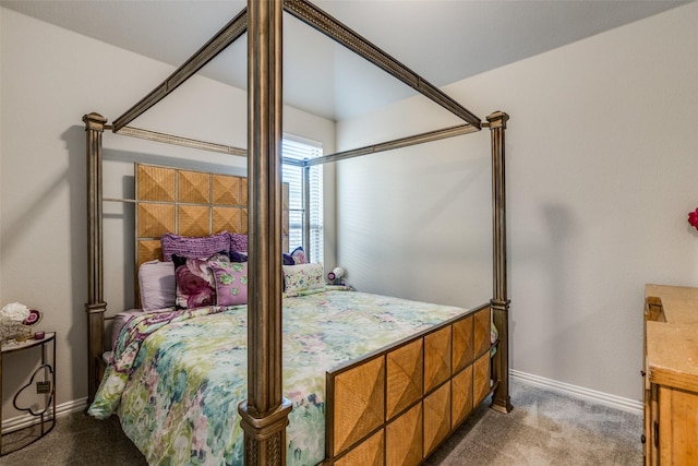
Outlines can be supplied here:
M174 280L177 282L178 309L201 308L216 303L216 285L209 261L225 263L227 255L215 254L208 259L172 255Z

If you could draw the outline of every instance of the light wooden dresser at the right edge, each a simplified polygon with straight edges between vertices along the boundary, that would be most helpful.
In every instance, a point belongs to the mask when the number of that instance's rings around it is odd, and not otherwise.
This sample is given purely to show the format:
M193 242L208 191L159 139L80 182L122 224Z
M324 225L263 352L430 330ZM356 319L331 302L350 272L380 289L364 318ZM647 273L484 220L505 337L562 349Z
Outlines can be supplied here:
M645 287L645 464L698 465L698 288Z

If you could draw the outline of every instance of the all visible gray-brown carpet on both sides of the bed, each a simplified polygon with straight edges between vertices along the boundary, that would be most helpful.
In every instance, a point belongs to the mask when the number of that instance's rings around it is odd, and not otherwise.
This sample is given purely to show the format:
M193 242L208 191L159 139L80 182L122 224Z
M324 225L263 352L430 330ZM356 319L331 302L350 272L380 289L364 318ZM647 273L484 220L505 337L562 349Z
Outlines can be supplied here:
M480 406L428 466L641 465L642 417L512 383L508 415ZM3 444L12 442L11 435ZM116 418L58 418L44 439L0 458L7 466L140 466L145 459Z

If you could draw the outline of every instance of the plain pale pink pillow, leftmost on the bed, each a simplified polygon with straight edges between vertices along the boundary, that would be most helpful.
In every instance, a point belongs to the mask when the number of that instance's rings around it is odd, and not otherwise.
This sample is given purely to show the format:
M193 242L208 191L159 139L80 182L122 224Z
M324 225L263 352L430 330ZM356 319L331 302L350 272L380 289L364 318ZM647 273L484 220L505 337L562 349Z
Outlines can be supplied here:
M144 311L171 308L174 306L177 284L174 265L158 260L148 261L139 267L139 290L141 308Z

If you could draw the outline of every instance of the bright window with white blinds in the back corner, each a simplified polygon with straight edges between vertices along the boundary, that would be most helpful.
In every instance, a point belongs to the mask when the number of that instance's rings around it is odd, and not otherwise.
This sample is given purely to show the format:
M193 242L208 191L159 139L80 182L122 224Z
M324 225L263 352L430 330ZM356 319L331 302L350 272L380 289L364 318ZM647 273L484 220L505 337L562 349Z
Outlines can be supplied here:
M285 135L281 141L284 159L302 162L322 155L320 143L290 135ZM303 189L304 176L310 177L308 195ZM285 183L289 183L289 251L302 246L311 262L323 262L323 167L314 165L305 169L284 163L281 177ZM303 229L305 215L309 215L309 231Z

